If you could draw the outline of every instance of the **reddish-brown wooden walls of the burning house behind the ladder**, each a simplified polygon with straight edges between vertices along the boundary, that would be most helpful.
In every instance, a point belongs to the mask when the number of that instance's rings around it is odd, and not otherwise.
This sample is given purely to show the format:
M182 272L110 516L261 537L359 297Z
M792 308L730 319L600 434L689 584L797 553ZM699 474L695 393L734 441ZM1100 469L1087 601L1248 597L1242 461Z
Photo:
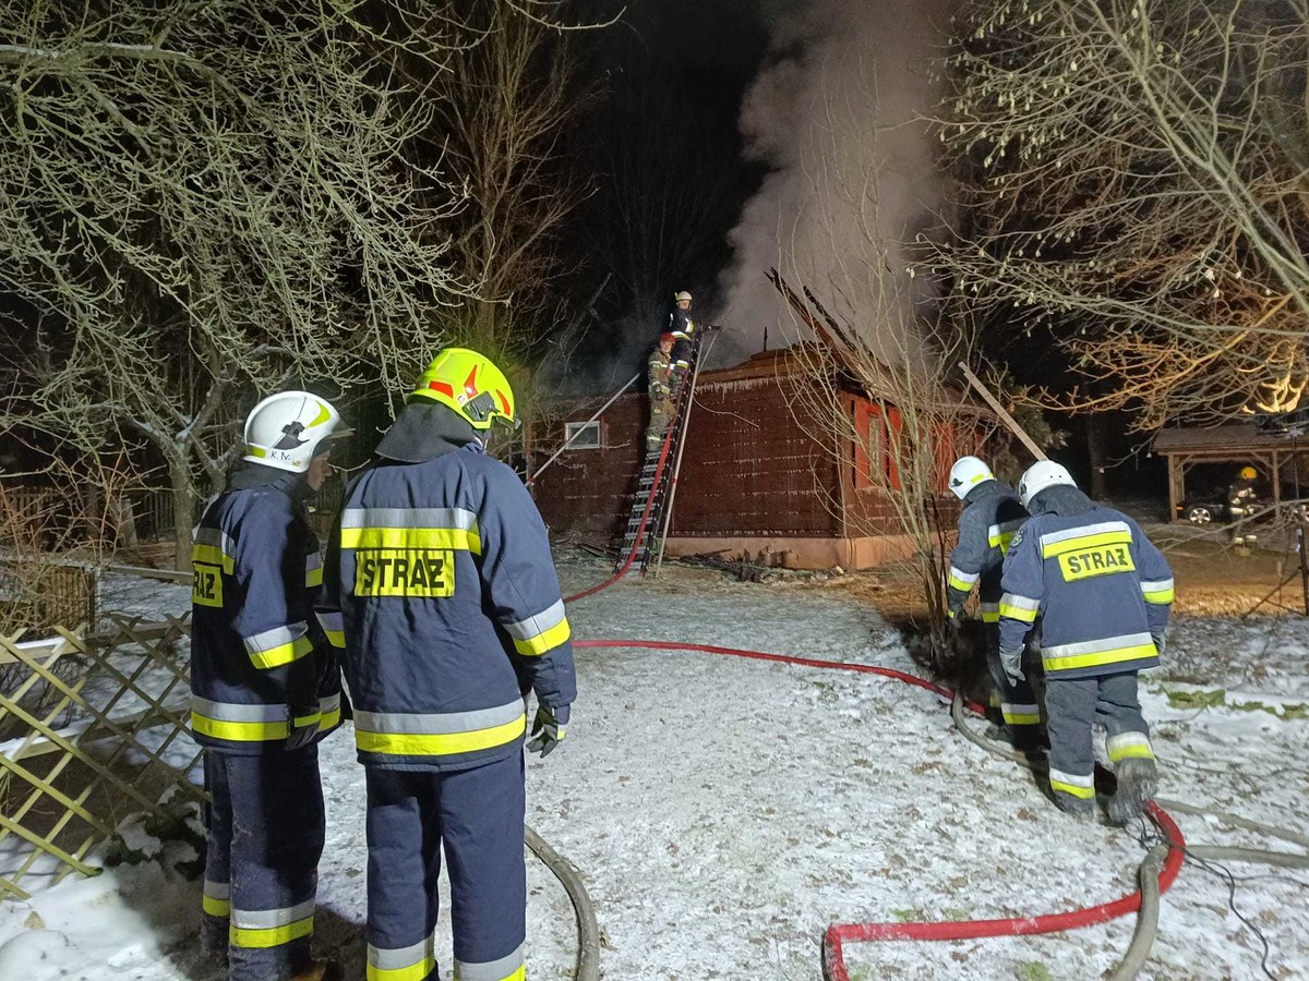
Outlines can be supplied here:
M757 356L761 357L761 356ZM792 405L822 403L802 396L802 375L755 371L753 377L702 383L682 459L673 532L702 536L848 536L899 534L894 508L874 479L873 467L898 488L885 454L886 426L898 426L895 409L882 419L878 407L850 395L846 407L856 426L877 433L868 443L796 421ZM564 439L567 421L588 419L594 400L548 430L534 434L531 468ZM600 449L569 449L538 479L537 505L558 530L607 536L627 523L636 471L644 456L648 405L644 395L624 395L601 419ZM830 443L825 446L821 439ZM839 449L836 447L836 443ZM937 513L946 527L957 517L945 476L958 453L953 433L933 441L941 496ZM878 449L882 447L882 449ZM839 459L838 459L839 455Z

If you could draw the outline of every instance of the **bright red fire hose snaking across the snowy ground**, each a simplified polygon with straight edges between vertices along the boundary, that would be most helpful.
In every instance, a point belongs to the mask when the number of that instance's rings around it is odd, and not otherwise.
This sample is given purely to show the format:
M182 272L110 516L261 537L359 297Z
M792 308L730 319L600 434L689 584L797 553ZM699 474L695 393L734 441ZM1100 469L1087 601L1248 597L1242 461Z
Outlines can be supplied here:
M630 561L628 561L630 564ZM609 583L588 590L577 595L596 593ZM737 658L750 658L754 661L774 661L784 664L801 664L804 667L817 667L838 671L857 671L867 675L882 675L898 681L916 685L933 692L942 698L952 697L952 693L939 684L933 684L916 675L897 671L889 667L874 667L872 664L851 664L840 661L819 661L816 658L797 658L785 654L764 654L757 650L741 650L738 647L719 647L712 644L677 644L674 641L636 641L636 640L603 640L603 641L573 641L575 647L647 647L654 650L698 650L707 654L726 654ZM974 712L980 712L982 706L969 705ZM1186 841L1181 829L1157 804L1148 807L1151 819L1168 837L1168 861L1158 876L1158 891L1165 892L1177 879L1182 869L1183 849ZM980 937L1028 937L1033 934L1049 934L1062 930L1073 930L1081 926L1094 926L1118 917L1136 913L1141 906L1140 891L1128 896L1103 903L1097 906L1075 909L1068 913L1052 913L1035 917L1013 917L1008 920L971 920L962 922L920 922L920 923L833 923L823 935L823 976L827 981L850 981L846 969L846 957L842 944L846 940L962 940Z

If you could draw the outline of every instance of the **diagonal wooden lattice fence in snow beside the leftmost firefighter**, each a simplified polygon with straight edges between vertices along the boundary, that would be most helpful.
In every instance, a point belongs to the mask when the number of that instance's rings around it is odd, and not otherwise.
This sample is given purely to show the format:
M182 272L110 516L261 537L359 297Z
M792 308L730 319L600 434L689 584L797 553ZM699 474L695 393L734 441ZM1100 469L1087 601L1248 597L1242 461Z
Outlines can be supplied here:
M178 651L188 619L56 632L0 637L0 899L94 875L88 855L123 818L169 816L169 787L174 800L203 800L186 776L199 757Z

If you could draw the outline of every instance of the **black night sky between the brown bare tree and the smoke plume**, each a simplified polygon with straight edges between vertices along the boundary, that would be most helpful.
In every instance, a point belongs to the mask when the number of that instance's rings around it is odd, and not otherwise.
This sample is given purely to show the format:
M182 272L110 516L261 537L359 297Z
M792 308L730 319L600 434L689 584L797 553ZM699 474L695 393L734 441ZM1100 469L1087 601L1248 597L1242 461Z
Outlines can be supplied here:
M601 387L644 362L673 292L707 296L732 258L728 233L766 174L742 153L738 118L767 44L758 0L641 0L600 38L588 71L607 94L579 133L577 156L596 194L569 234L581 262L569 293L585 302L614 273L576 364ZM662 264L648 263L637 283L624 266L639 263L626 259L630 243L613 229L615 196L632 201L643 190L615 165L623 153L668 175L666 200L699 199L695 207L674 203L658 229L630 232L690 242L670 246Z

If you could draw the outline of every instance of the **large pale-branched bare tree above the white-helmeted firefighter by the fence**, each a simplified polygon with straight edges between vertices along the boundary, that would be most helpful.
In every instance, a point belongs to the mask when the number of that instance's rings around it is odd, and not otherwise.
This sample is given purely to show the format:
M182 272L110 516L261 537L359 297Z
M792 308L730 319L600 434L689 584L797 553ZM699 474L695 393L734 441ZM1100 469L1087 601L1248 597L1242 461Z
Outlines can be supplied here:
M8 421L168 466L188 561L202 475L289 382L398 387L469 294L442 228L454 177L407 156L432 124L378 71L355 4L0 10L0 290ZM429 63L467 38L408 34ZM360 43L373 38L373 44Z

